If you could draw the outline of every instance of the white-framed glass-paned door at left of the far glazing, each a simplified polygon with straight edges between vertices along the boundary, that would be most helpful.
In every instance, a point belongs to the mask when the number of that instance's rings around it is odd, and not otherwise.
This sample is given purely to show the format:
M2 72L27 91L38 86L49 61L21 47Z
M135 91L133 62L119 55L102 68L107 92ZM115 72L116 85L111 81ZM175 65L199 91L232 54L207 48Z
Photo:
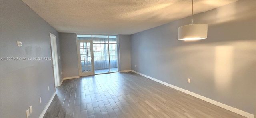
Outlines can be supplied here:
M94 75L92 41L78 41L79 76Z

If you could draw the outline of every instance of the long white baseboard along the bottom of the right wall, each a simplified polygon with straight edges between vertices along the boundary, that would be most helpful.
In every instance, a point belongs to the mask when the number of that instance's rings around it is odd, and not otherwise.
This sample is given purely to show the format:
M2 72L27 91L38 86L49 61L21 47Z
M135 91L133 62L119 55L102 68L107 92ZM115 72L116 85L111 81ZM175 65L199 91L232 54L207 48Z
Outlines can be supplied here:
M228 106L228 105L226 105L226 104L222 104L222 103L217 102L217 101L215 101L215 100L212 100L212 99L210 99L210 98L206 98L206 97L201 96L201 95L199 95L199 94L196 94L196 93L194 93L194 92L190 92L190 91L185 90L185 89L183 89L183 88L174 86L174 85L172 85L172 84L168 84L168 83L166 83L166 82L163 82L163 81L158 80L158 79L156 79L156 78L152 78L152 77L150 77L150 76L147 76L147 75L145 75L145 74L136 72L136 71L134 71L134 70L132 70L132 72L137 73L137 74L139 74L139 75L141 75L141 76L144 76L144 77L146 77L146 78L149 78L149 79L151 79L151 80L154 80L154 81L156 81L156 82L159 82L159 83L161 83L161 84L164 84L164 85L166 85L166 86L169 86L169 87L171 87L171 88L174 88L174 89L176 89L176 90L179 90L179 91L181 91L181 92L184 92L184 93L186 93L186 94L189 94L189 95L191 95L191 96L194 96L194 97L196 97L196 98L199 98L199 99L201 99L201 100L204 100L204 101L206 101L206 102L212 103L212 104L214 104L214 105L216 105L216 106L219 106L219 107L221 107L221 108L224 108L224 109L226 109L226 110L230 110L230 111L232 111L232 112L234 112L234 113L236 113L236 114L240 114L240 115L245 116L245 117L247 117L247 118L254 118L254 115L253 115L253 114L250 114L250 113L248 113L248 112L239 110L239 109L237 109L237 108L234 108L234 107L232 107L232 106Z

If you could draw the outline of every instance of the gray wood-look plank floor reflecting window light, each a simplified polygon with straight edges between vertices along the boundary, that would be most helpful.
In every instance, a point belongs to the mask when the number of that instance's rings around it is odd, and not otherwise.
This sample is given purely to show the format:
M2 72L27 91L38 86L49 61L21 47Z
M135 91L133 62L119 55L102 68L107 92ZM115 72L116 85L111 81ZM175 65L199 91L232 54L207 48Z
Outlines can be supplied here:
M244 118L133 72L64 80L44 118Z

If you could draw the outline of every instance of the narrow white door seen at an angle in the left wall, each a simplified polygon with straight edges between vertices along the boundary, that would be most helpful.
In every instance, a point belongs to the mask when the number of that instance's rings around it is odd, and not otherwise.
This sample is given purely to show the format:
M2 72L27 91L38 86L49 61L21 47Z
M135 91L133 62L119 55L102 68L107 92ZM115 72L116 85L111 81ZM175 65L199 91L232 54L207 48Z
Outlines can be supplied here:
M50 33L50 43L51 43L51 51L52 51L52 68L54 74L54 83L55 86L60 86L60 76L59 76L59 66L58 66L58 53L57 53L57 42L56 36Z

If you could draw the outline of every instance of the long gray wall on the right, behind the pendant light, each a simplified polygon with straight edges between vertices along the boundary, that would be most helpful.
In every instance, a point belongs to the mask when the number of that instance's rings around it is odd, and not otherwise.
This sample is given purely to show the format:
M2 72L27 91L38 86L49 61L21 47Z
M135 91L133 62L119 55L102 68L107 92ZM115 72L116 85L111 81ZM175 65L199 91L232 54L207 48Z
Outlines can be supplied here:
M178 41L191 17L132 34L132 70L255 114L255 21L256 1L238 1L194 16L205 40Z

